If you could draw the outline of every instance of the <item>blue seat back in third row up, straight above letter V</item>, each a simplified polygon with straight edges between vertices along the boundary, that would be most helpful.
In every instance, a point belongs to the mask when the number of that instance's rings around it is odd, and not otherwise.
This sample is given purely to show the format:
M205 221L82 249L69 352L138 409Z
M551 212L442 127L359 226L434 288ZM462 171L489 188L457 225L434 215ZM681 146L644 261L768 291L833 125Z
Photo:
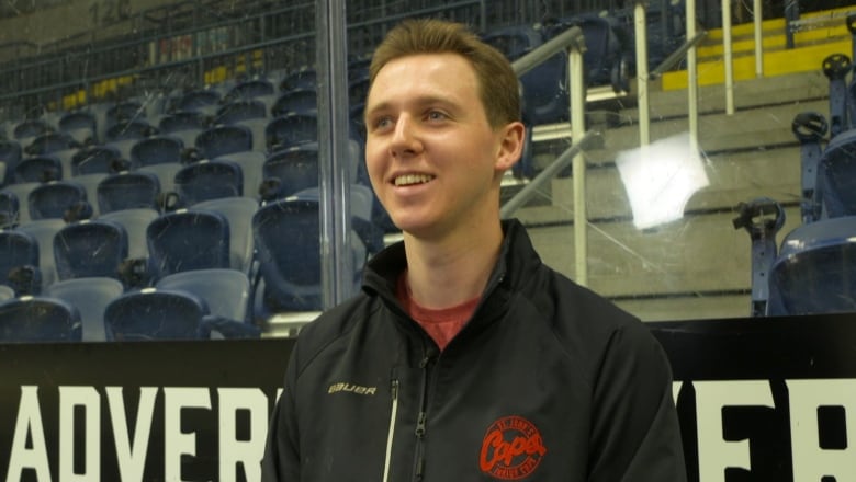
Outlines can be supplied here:
M158 207L160 182L155 174L123 172L105 177L98 184L98 207L103 213L123 209Z

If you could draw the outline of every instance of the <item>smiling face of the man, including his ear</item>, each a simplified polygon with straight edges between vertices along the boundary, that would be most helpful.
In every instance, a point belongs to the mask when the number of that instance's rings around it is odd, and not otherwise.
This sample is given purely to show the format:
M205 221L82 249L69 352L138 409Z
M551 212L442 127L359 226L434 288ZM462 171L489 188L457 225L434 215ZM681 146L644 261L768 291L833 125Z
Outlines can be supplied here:
M498 218L495 180L510 165L506 134L489 126L463 57L414 55L386 64L369 92L365 126L369 176L399 229L433 238L472 219Z

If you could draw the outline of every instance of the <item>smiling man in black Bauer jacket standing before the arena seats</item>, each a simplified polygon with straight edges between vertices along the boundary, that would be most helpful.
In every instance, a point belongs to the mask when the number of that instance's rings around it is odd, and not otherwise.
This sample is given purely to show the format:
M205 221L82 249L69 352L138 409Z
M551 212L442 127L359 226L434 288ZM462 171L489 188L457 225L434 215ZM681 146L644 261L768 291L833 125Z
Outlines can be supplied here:
M500 222L525 133L508 61L405 21L371 79L368 171L404 241L301 333L263 480L685 480L660 345Z

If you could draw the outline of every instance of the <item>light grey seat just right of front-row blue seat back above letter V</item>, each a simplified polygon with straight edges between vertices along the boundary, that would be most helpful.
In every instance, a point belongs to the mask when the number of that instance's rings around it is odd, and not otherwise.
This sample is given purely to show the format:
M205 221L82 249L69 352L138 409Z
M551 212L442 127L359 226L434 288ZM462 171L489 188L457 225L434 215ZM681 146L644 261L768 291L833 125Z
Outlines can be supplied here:
M250 282L236 269L195 269L161 278L158 290L180 290L203 299L209 312L234 321L246 321Z

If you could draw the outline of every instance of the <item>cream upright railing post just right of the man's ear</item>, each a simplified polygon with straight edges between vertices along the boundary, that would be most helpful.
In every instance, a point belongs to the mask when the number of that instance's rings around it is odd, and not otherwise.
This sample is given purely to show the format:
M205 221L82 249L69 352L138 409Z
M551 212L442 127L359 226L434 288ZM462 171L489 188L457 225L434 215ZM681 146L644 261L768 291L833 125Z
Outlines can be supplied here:
M584 46L577 45L572 47L568 54L567 84L571 85L571 135L574 142L579 142L586 133L584 50ZM574 273L576 283L586 286L588 285L588 215L586 213L586 161L582 152L574 156L572 165L574 176Z

